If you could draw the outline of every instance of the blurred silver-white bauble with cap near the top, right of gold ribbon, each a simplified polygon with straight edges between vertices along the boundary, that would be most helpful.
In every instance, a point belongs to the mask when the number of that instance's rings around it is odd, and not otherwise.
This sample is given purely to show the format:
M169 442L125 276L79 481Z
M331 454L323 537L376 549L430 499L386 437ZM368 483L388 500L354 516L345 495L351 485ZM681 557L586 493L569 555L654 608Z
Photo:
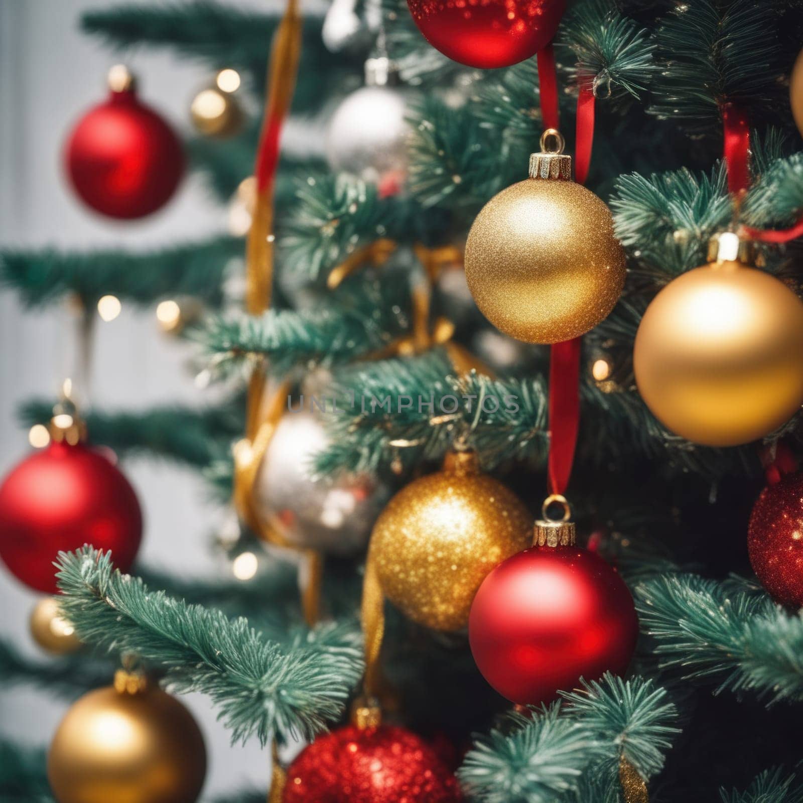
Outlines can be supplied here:
M329 123L326 153L333 170L386 188L406 173L406 96L389 59L365 62L365 87L336 108ZM385 191L384 194L392 194Z

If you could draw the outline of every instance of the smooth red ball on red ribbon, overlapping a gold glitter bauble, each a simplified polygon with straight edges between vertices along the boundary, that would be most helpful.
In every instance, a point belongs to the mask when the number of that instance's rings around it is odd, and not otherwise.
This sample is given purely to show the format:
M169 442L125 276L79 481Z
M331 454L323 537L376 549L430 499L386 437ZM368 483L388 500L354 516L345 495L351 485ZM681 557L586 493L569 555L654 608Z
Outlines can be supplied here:
M468 635L479 671L499 694L548 703L581 678L622 675L638 618L627 586L601 557L577 547L532 547L485 578Z

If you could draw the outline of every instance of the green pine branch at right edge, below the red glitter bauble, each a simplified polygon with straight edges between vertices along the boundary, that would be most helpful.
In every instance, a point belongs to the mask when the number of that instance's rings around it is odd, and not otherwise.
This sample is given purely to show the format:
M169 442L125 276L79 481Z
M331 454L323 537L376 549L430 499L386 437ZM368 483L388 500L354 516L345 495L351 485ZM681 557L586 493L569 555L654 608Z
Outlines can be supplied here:
M716 691L755 691L770 703L803 700L803 617L763 593L695 574L657 577L635 589L642 628L661 666Z

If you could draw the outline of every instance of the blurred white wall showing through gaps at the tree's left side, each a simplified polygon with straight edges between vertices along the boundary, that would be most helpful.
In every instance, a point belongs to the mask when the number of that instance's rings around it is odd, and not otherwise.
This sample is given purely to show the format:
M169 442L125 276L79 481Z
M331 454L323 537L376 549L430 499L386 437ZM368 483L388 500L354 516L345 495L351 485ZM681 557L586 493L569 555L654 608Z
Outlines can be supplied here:
M154 4L158 0L151 0ZM256 2L252 3L256 4ZM153 247L202 238L222 230L225 213L197 181L186 181L169 206L145 222L112 223L76 202L61 176L60 151L76 117L104 96L104 75L118 56L80 35L85 8L108 0L0 0L0 245ZM262 6L262 2L259 2ZM266 43L267 47L267 43ZM210 78L198 64L163 51L138 50L127 58L141 93L178 128L186 109ZM22 399L55 393L65 371L65 321L53 310L26 312L18 297L0 293L0 474L28 450L26 432L14 420ZM185 346L157 332L153 312L124 308L112 323L97 326L93 400L107 408L138 409L155 403L202 403L187 373ZM210 509L201 481L189 471L159 463L128 463L125 471L145 509L141 557L176 573L210 573ZM36 600L0 568L0 634L41 657L27 631ZM210 772L205 795L267 784L267 752L259 745L230 748L206 699L189 698L206 735ZM28 689L0 689L0 732L29 744L47 744L66 703Z

